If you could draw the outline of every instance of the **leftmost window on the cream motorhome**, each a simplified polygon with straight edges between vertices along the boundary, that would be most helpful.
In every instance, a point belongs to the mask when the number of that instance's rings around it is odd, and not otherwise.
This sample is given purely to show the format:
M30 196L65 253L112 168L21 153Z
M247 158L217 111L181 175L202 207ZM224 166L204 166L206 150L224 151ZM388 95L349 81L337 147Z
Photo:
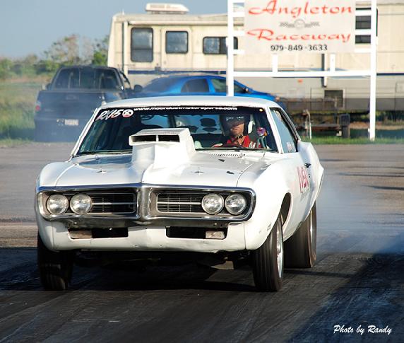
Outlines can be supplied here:
M131 60L133 62L153 61L153 29L132 28Z

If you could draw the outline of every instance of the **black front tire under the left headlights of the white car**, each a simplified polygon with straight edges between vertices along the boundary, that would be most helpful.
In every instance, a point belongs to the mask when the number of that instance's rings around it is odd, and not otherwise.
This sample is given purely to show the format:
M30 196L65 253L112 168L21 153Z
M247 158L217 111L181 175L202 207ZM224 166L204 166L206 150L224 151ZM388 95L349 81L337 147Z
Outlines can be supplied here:
M39 234L37 242L37 263L43 288L47 291L66 290L73 272L74 252L49 250Z

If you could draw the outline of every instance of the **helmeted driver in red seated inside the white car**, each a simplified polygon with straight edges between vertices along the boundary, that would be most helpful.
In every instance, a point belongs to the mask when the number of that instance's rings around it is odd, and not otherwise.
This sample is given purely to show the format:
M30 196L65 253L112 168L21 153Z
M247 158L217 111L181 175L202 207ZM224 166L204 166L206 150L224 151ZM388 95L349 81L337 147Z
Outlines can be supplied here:
M220 118L224 130L224 136L218 146L233 145L244 148L259 148L256 139L247 133L249 115L225 115ZM259 144L258 144L259 145Z

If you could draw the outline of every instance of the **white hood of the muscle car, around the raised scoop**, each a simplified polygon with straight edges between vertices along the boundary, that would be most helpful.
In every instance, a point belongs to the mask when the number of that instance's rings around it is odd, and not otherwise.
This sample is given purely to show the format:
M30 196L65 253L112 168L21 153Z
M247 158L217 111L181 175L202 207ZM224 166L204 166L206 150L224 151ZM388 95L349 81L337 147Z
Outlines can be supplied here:
M196 151L189 161L159 166L152 161L134 163L131 155L90 155L69 162L51 163L40 175L39 186L184 185L237 187L247 170L258 176L271 162L263 151ZM273 159L273 158L270 158Z

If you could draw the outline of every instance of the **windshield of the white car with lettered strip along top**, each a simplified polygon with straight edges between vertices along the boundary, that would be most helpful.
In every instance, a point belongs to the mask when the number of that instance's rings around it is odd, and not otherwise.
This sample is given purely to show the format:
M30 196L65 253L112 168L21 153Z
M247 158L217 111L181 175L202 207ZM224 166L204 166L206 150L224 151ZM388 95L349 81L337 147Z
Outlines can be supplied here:
M126 107L100 110L78 154L131 151L129 136L157 128L188 128L197 150L277 151L263 108Z

